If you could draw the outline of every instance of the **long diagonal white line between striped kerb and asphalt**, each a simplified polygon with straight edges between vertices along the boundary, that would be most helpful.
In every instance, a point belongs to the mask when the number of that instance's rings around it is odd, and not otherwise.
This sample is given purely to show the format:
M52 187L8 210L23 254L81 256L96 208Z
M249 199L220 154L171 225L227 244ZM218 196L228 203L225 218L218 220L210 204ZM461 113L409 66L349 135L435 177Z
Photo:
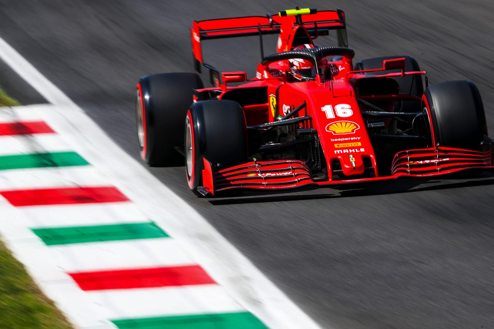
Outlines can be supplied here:
M206 219L119 148L82 109L1 38L0 57L56 105L39 112L41 117L62 134L82 157L110 177L125 195L139 205L147 218L156 221L184 244L194 259L243 307L272 329L320 328ZM21 245L12 246L14 252L16 248L22 249ZM27 268L36 274L36 268L29 264ZM43 287L43 283L41 287L47 288L46 285ZM63 299L58 292L48 293L48 296ZM60 305L61 299L55 300L63 311L71 311L68 308L72 305Z

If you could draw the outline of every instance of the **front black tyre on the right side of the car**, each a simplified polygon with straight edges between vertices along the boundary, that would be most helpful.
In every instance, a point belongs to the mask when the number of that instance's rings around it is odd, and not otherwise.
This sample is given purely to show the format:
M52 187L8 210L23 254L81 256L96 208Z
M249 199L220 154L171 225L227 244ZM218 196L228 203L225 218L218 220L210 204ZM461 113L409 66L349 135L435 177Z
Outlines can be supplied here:
M473 82L429 86L422 97L422 109L429 115L432 145L481 150L488 132L482 98Z

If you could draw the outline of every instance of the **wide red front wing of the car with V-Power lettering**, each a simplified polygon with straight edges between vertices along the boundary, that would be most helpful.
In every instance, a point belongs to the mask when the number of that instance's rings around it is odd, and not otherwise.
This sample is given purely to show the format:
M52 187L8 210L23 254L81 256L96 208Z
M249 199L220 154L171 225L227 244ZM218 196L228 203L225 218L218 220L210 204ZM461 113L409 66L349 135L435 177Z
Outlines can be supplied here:
M391 175L372 178L321 180L313 176L303 161L253 161L239 166L215 170L205 158L203 184L198 188L203 195L231 189L289 189L302 186L331 187L350 183L393 180L401 177L427 178L448 175L464 170L494 169L492 141L483 151L452 147L431 147L398 152L391 165Z

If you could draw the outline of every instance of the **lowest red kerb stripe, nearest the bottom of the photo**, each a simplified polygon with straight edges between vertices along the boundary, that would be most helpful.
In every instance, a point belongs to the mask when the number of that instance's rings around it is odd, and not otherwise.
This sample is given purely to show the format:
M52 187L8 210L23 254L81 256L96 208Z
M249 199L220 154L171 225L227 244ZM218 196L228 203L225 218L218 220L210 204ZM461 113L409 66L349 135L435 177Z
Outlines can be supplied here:
M199 265L69 273L82 290L132 289L214 284Z

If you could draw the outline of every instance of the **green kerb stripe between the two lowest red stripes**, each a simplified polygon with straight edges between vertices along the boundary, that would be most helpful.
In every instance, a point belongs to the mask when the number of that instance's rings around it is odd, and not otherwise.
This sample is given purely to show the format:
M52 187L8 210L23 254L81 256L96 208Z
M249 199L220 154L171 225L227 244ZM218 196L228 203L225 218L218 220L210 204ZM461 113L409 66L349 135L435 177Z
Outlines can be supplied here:
M34 228L33 232L48 245L64 245L98 241L166 238L168 235L155 223L130 223L97 226Z

